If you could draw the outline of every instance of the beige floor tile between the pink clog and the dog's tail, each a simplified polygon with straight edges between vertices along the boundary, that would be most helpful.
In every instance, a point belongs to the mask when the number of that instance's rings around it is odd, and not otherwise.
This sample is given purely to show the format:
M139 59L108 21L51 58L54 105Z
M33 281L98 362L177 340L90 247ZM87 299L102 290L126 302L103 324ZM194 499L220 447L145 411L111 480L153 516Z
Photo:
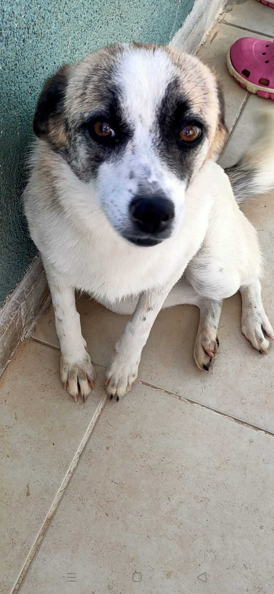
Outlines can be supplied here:
M273 10L274 12L274 10ZM273 16L274 18L274 16ZM260 118L269 113L274 117L274 105L271 99L262 99L250 94L244 110L229 138L219 163L228 167L237 163L245 150L253 143L260 129Z

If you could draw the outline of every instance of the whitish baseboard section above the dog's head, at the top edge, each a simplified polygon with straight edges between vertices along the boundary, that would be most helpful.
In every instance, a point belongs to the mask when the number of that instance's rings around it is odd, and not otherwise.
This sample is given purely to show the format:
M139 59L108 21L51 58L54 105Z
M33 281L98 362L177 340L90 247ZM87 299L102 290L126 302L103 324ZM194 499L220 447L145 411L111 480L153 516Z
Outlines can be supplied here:
M187 53L196 53L223 10L225 0L196 0L181 29L170 45Z

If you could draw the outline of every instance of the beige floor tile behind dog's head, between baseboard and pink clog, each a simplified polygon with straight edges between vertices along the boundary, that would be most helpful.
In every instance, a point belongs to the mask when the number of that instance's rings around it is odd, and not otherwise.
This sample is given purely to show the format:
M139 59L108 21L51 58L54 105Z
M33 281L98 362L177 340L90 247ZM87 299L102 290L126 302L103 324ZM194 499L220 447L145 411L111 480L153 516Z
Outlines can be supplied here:
M197 52L201 61L210 68L216 69L218 73L225 96L226 124L229 129L234 125L235 118L247 97L247 91L235 83L226 67L226 53L232 43L240 37L242 37L241 29L217 23Z

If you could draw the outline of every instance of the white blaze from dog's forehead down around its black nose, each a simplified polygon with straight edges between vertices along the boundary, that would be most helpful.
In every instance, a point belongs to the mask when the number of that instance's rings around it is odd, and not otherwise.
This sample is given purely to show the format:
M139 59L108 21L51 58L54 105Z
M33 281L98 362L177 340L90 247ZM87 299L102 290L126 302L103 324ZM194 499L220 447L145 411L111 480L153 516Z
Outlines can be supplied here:
M133 232L130 204L140 182L149 182L155 195L165 194L174 203L173 233L184 216L186 182L160 159L158 144L154 142L157 126L156 131L153 128L166 90L176 76L177 69L165 50L130 46L119 56L114 76L111 74L111 82L119 89L119 106L133 128L133 138L128 140L124 151L117 154L114 151L112 158L99 166L96 197L112 226L127 236Z

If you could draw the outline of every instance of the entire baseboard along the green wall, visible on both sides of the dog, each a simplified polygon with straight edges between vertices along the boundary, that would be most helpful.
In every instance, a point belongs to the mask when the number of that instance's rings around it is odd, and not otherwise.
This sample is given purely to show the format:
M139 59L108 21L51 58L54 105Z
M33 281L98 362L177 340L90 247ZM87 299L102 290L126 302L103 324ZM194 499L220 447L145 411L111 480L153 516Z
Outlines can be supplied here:
M196 0L171 45L195 53L223 8L223 0ZM0 310L0 376L18 344L51 305L51 295L39 256Z

